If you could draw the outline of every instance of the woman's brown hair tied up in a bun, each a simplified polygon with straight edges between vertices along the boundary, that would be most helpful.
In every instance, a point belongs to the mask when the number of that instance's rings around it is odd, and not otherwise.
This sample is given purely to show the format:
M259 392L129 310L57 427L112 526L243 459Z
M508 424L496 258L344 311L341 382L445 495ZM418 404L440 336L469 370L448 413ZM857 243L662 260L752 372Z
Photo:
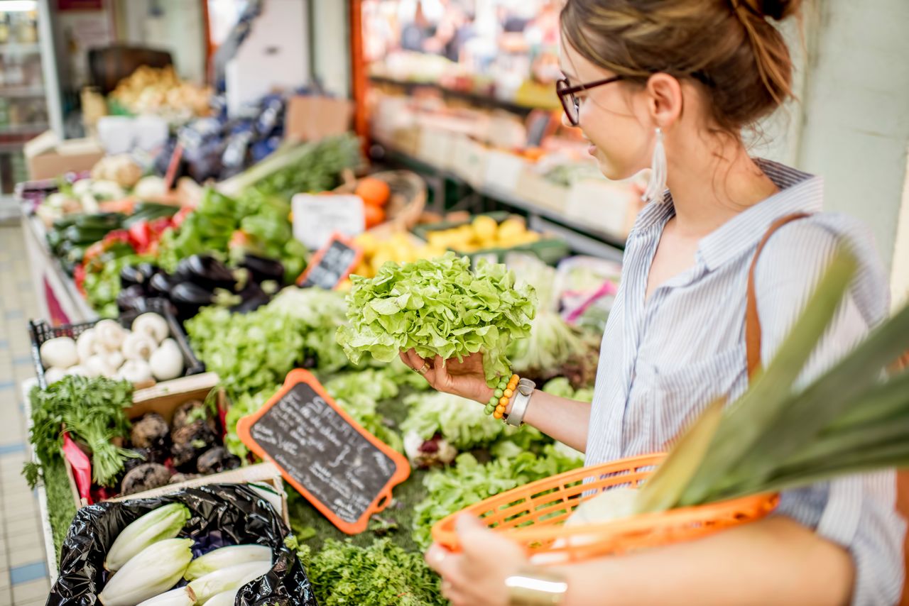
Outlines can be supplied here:
M792 60L769 19L801 0L567 0L565 41L587 60L644 83L657 72L704 86L724 131L754 124L792 96Z

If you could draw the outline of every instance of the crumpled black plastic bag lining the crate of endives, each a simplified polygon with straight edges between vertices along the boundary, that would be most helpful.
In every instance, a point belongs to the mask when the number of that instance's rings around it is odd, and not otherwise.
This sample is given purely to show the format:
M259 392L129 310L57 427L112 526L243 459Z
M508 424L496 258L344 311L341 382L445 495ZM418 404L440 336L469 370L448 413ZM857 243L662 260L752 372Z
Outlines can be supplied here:
M272 549L275 565L264 577L237 593L237 604L251 606L317 606L312 584L294 551L285 546L287 529L271 504L239 484L209 484L155 499L102 502L75 514L60 552L60 576L47 606L100 604L104 561L116 536L130 523L158 507L182 502L192 517L181 537L195 540L197 557L225 545L258 543Z

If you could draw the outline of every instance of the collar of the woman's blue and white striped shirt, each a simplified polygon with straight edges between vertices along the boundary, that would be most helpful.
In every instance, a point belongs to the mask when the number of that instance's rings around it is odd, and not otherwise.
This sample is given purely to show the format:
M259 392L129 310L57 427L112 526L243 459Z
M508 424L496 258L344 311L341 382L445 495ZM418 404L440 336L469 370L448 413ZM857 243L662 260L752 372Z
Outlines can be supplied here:
M779 217L793 213L817 213L822 210L824 180L821 177L762 158L755 158L755 162L780 191L735 215L701 240L698 255L708 270L712 271L753 248L770 224ZM628 234L629 239L652 228L662 230L674 214L673 196L667 190L662 204L647 204L638 214L634 227Z

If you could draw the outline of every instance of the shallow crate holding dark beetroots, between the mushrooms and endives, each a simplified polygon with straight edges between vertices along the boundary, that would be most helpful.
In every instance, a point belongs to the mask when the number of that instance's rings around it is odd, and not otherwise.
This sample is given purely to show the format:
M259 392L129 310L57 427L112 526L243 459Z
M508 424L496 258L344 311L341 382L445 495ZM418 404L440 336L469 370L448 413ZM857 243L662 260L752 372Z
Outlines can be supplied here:
M131 420L136 420L146 412L157 412L165 421L170 424L174 418L176 409L184 402L190 400L203 400L209 392L215 388L218 382L218 376L215 373L195 374L193 376L175 379L169 382L161 382L154 387L143 390L137 390L133 394L133 406L129 408L127 414ZM218 393L219 407L225 406L225 396L223 392ZM79 496L78 487L75 483L75 475L69 461L64 459L66 473L69 477L70 489L73 492L73 499L76 509L85 507L88 503ZM265 462L257 465L249 465L229 472L213 473L194 480L167 484L160 488L150 491L136 492L125 496L118 496L109 501L125 501L130 499L145 499L150 497L161 496L176 492L184 488L194 488L204 486L205 484L233 484L233 483L262 483L268 488L268 492L275 492L273 504L280 504L280 512L287 522L286 496L284 484L281 479L281 472L278 471L274 463ZM265 496L265 495L264 495ZM277 509L277 508L275 508Z

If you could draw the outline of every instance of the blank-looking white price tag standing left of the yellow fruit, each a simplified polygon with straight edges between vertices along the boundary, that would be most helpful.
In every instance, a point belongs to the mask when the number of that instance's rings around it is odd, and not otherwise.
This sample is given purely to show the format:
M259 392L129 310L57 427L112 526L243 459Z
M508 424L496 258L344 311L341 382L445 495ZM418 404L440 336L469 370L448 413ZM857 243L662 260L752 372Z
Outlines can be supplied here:
M333 233L357 235L365 230L363 200L356 195L296 194L294 237L309 250L325 246Z

